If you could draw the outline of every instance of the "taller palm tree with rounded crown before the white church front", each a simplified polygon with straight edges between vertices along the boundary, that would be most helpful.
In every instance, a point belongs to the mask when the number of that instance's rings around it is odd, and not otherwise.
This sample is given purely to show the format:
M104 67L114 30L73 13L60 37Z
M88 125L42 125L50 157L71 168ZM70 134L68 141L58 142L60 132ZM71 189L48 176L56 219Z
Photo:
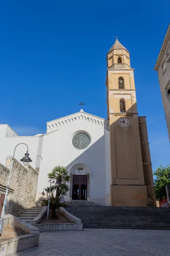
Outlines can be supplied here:
M56 166L56 167L54 167L52 172L48 173L48 178L52 180L52 183L54 183L56 180L60 181L60 184L56 189L56 198L59 201L60 195L61 195L61 189L60 189L61 186L70 180L68 171L64 166ZM68 192L68 190L66 192Z

